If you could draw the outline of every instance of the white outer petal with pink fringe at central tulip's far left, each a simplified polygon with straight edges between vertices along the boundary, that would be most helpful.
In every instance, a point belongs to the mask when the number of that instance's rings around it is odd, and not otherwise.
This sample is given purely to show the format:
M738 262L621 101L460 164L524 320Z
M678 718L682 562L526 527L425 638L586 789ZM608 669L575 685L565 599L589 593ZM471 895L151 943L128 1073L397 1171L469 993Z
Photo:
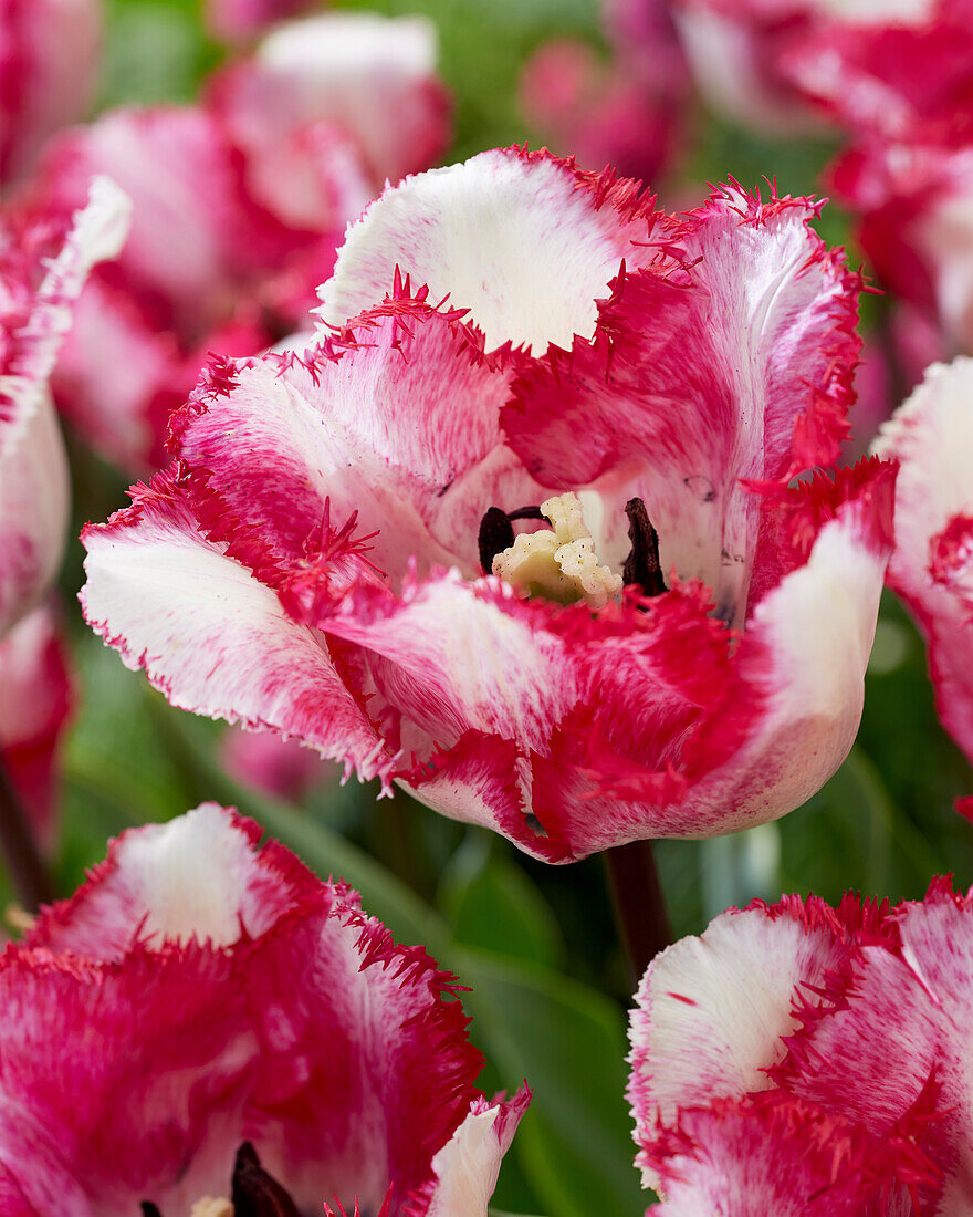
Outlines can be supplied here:
M89 624L184 710L297 735L360 776L392 763L320 634L208 543L168 476L89 526Z

